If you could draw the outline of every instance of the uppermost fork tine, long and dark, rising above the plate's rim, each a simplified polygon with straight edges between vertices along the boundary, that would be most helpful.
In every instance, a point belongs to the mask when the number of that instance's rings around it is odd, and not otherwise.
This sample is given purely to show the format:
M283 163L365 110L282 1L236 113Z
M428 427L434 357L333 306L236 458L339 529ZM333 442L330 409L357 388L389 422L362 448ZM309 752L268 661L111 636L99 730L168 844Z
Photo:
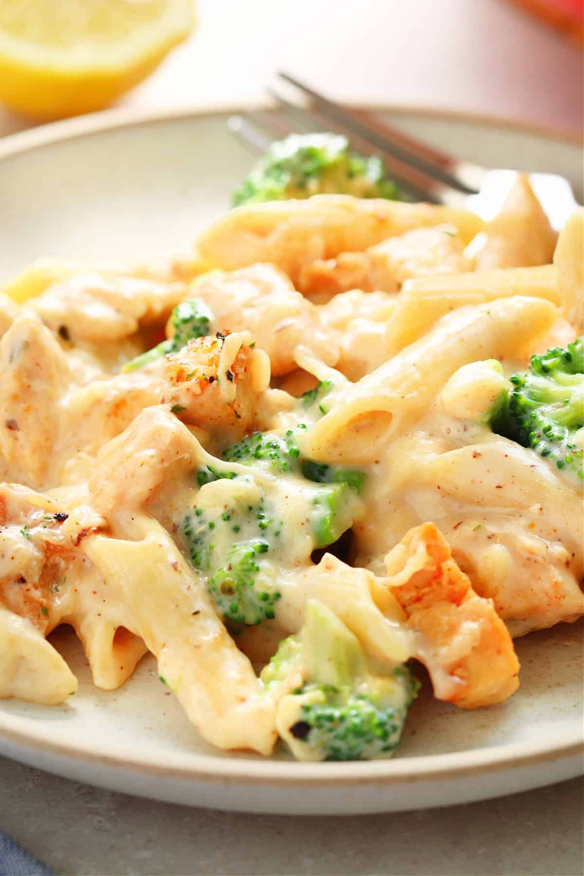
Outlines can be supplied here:
M463 192L464 194L476 194L477 190L475 188L458 180L452 173L447 173L440 166L437 166L429 160L421 158L414 152L397 145L390 138L384 136L378 129L369 128L369 126L363 124L358 117L355 117L350 110L341 109L339 104L328 100L327 97L320 95L318 91L309 88L294 76L283 72L278 72L278 76L286 82L289 82L295 88L298 88L304 95L310 97L329 117L334 118L343 124L348 131L352 131L363 140L374 145L376 149L380 149L385 154L392 155L394 158L405 162L405 164L415 167L422 173L426 173L428 176L433 177L434 180L439 180L458 192Z

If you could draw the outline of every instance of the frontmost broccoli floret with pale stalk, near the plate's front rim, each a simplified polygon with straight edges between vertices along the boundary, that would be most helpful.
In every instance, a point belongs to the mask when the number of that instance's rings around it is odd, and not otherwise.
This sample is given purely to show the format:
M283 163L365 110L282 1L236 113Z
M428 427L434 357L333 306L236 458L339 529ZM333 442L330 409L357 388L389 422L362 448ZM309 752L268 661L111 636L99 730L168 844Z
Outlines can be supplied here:
M278 704L280 736L299 760L391 757L419 683L409 668L370 661L334 612L306 605L301 636L285 639L264 668L268 690L301 668L304 685Z

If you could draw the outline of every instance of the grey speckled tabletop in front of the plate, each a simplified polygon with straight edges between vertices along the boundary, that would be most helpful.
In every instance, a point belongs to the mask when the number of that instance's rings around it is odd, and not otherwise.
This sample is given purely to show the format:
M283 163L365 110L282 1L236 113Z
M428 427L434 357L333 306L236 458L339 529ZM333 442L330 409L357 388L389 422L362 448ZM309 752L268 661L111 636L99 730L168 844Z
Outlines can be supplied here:
M0 830L58 876L581 876L580 779L388 816L248 816L77 784L0 758Z

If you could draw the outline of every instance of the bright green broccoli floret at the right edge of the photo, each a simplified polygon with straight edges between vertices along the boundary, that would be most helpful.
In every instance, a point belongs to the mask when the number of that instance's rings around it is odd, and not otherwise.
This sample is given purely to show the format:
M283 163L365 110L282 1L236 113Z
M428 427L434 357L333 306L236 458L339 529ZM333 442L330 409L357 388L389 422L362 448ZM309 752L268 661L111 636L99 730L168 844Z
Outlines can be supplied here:
M493 431L584 479L584 337L532 356L529 371L513 374L510 383Z

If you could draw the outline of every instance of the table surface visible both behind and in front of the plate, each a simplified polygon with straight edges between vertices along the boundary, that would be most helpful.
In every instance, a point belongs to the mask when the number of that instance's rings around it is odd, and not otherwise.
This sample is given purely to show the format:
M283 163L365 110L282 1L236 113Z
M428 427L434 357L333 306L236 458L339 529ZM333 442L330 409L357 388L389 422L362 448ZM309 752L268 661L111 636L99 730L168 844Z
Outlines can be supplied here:
M193 39L122 106L254 102L283 68L350 102L582 128L580 50L503 0L200 0L199 10ZM0 136L30 124L0 109ZM330 819L186 809L6 759L0 788L0 829L62 874L574 876L584 865L580 780L468 806Z

